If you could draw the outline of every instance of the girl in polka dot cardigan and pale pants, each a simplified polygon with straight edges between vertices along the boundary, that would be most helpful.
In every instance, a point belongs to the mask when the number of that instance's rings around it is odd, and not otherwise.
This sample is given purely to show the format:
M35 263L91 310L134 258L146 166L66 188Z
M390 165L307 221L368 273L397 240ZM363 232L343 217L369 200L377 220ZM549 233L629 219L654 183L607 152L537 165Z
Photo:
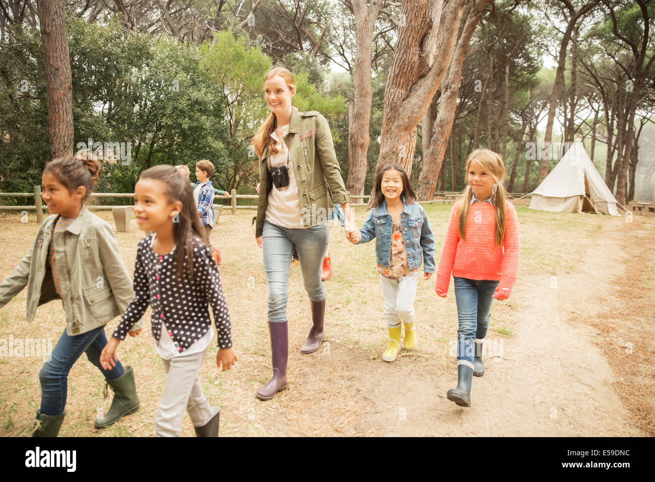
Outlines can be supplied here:
M116 348L150 305L155 349L167 373L155 432L179 436L187 411L198 437L217 437L220 409L210 407L197 378L214 336L209 304L218 332L217 366L230 369L236 354L218 269L202 241L193 190L172 166L147 169L134 187L134 214L141 230L154 232L139 243L136 296L102 351L100 363L114 364Z

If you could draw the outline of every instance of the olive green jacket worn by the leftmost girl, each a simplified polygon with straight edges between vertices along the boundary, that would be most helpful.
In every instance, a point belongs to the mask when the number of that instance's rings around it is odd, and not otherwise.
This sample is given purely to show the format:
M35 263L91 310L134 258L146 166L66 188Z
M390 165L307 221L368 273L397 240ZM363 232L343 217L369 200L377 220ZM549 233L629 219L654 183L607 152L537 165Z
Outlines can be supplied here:
M66 333L73 336L121 315L134 299L134 289L111 226L83 205L67 230L54 236L60 297L47 262L58 218L59 214L52 214L43 221L28 254L0 284L0 308L28 285L26 319L34 319L38 306L62 299ZM142 327L140 320L133 330Z

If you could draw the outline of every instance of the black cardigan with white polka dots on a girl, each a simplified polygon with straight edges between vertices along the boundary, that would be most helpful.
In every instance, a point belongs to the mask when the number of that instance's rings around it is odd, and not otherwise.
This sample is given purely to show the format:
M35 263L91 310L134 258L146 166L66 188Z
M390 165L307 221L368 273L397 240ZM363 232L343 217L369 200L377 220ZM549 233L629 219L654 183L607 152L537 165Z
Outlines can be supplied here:
M136 296L123 313L121 323L112 336L124 340L150 305L153 308L151 325L155 340L159 342L161 322L164 321L178 351L185 351L210 328L212 322L208 304L211 304L218 347L231 348L230 315L210 249L198 237L194 238L193 280L189 280L187 275L179 281L175 274L176 249L159 255L150 247L152 237L149 235L139 243L134 267Z

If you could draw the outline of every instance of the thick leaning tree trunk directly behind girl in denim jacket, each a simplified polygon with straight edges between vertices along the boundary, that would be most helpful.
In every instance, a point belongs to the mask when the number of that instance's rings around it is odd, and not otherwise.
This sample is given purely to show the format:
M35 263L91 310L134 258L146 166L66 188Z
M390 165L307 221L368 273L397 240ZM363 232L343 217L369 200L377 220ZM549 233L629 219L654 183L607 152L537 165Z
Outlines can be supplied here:
M376 174L384 165L396 162L411 175L416 127L447 73L465 3L403 0L403 21L384 92Z

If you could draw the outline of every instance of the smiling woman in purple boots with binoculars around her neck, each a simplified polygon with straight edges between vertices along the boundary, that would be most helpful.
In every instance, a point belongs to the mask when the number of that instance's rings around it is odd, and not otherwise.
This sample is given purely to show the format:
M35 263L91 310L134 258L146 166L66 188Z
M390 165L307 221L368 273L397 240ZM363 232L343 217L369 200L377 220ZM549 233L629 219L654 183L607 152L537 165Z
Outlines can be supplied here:
M352 221L332 136L325 117L316 111L300 112L291 106L295 80L285 68L264 78L264 98L271 112L253 136L259 157L257 245L263 248L269 282L268 323L271 334L273 377L257 390L269 400L287 386L289 269L297 249L303 283L309 294L312 328L301 353L317 351L324 337L326 292L321 281L329 241L327 218L334 203L345 213L346 237L359 231Z

